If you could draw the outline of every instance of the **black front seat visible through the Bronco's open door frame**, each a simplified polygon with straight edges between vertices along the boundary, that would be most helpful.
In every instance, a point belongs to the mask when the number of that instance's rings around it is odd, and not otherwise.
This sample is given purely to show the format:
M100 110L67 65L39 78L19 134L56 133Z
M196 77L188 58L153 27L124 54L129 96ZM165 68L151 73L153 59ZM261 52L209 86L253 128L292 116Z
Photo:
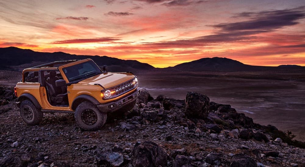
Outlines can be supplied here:
M57 77L56 71L50 71L49 77L47 78L47 89L50 95L50 101L52 104L63 104L65 105L68 101L68 93L64 93L62 87L56 87L56 80L59 80Z

